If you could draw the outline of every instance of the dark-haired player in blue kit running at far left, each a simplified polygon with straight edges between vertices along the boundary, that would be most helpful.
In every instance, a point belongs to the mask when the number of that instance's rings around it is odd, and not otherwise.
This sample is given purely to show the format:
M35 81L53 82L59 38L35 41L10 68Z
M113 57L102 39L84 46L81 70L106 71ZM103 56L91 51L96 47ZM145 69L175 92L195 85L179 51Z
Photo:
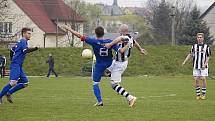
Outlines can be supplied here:
M23 28L21 33L23 38L11 49L10 82L0 92L0 104L2 104L4 95L6 95L8 102L13 103L11 95L27 87L29 83L22 65L26 54L38 50L38 48L28 48L28 40L31 38L30 28Z

